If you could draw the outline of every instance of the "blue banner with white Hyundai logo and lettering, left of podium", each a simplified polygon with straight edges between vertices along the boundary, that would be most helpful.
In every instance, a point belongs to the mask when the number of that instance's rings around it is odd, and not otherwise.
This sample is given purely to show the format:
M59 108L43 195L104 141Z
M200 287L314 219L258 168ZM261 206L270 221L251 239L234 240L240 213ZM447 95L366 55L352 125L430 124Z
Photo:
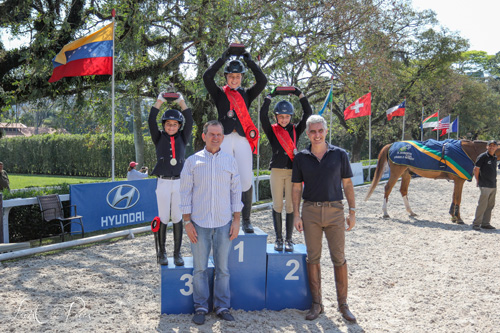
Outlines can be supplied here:
M158 215L156 179L70 185L85 232L151 221Z

